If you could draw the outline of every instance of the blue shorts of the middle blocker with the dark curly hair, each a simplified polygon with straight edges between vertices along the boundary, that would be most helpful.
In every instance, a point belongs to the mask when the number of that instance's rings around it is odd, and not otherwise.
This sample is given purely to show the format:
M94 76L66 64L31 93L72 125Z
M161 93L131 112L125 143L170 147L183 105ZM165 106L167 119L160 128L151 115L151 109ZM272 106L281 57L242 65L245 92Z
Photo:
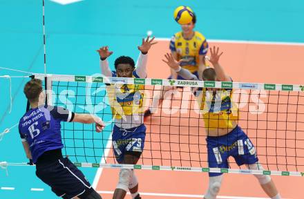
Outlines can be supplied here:
M133 129L120 129L114 125L112 144L117 162L120 164L124 162L124 154L126 152L135 151L142 153L145 138L146 126L144 124Z

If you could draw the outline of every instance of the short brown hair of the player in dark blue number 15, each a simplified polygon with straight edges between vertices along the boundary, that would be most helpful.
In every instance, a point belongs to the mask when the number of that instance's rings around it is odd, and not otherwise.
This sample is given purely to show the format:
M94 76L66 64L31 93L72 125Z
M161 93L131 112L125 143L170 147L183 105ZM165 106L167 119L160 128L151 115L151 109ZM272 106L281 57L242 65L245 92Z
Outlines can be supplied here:
M30 102L37 102L42 92L42 82L40 79L31 79L23 88L23 93Z

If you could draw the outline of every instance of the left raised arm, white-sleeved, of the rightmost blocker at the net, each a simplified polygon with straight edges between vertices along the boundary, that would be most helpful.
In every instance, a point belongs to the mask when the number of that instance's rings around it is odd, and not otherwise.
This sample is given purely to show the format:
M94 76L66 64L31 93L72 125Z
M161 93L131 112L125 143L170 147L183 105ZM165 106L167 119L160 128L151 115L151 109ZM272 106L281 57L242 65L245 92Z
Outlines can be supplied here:
M182 78L187 79L187 80L198 80L198 77L196 75L193 75L192 73L189 72L189 70L184 69L180 67L180 63L183 61L180 59L180 61L177 61L174 59L172 54L167 53L164 55L166 59L162 59L164 63L166 63L172 70L174 70L178 75L180 75Z

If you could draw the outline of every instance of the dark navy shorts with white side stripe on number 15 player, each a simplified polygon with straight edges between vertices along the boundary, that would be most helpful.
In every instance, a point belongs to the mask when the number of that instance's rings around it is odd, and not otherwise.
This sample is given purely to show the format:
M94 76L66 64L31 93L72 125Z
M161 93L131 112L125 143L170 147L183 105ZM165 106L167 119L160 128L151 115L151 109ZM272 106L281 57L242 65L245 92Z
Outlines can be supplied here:
M48 184L52 191L61 198L87 198L93 188L82 171L77 169L68 158L45 165L36 165L36 176Z

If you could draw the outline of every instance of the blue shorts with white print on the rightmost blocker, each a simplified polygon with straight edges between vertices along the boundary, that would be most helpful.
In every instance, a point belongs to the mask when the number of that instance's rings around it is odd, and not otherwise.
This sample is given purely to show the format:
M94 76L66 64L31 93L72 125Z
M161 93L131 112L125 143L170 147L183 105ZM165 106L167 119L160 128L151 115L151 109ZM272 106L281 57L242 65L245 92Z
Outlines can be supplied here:
M234 157L238 166L258 162L256 149L239 126L227 135L207 137L208 163L210 168L229 168L228 158ZM220 176L222 173L209 173Z

